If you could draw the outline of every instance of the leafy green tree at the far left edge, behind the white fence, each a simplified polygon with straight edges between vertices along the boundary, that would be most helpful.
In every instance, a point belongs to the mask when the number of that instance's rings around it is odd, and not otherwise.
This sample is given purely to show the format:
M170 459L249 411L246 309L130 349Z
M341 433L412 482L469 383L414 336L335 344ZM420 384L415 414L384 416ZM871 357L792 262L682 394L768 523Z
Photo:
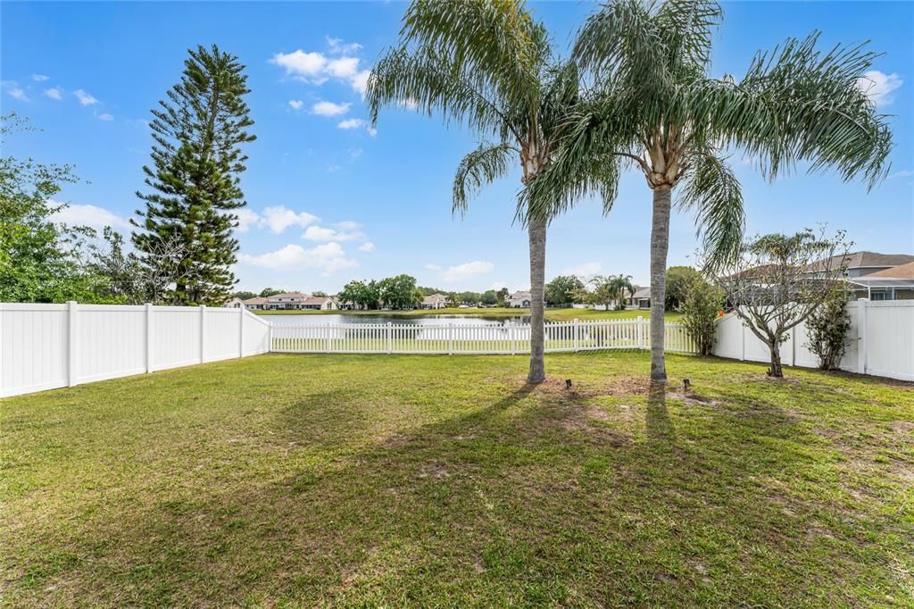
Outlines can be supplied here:
M34 131L16 113L0 117L0 138ZM65 203L53 200L76 181L70 166L0 158L0 302L94 302L97 283L85 264L94 231L55 221Z

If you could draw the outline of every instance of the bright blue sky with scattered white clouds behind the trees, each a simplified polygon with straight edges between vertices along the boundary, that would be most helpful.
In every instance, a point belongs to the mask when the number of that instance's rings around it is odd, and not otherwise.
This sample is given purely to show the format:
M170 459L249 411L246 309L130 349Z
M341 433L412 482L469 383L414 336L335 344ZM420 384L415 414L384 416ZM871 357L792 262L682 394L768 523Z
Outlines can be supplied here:
M530 7L566 53L594 9L588 2ZM0 4L2 111L43 131L16 134L5 155L69 163L81 178L59 199L67 219L124 229L143 189L152 143L145 121L180 78L186 49L217 43L248 69L258 140L247 149L249 203L239 233L239 288L267 285L335 292L353 278L408 272L423 285L484 290L528 287L526 236L512 226L518 176L489 187L465 219L451 215L453 171L472 133L409 108L367 128L361 86L396 40L406 5L370 3ZM823 32L822 46L872 40L886 55L871 90L894 114L892 175L867 193L833 174L802 171L768 184L732 158L749 231L795 231L827 222L856 249L914 251L914 4L725 3L713 74L741 75L758 49ZM611 214L582 202L548 235L547 277L558 273L648 276L650 191L625 176ZM670 264L696 249L693 219L675 215Z

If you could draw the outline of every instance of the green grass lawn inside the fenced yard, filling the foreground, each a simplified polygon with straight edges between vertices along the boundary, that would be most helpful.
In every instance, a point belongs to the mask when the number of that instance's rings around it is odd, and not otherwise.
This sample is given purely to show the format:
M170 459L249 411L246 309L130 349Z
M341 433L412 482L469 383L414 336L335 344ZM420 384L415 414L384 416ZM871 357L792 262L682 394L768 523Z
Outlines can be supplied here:
M914 385L667 361L273 354L0 401L0 604L914 604Z

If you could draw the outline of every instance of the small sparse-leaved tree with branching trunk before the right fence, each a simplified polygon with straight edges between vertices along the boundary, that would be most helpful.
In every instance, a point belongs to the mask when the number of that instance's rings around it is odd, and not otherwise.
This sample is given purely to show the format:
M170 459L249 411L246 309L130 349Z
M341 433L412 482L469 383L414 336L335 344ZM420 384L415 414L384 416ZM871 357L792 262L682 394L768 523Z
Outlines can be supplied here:
M824 231L763 235L742 243L719 267L715 281L743 325L771 350L771 377L783 376L781 343L813 315L842 279L847 258L844 233Z

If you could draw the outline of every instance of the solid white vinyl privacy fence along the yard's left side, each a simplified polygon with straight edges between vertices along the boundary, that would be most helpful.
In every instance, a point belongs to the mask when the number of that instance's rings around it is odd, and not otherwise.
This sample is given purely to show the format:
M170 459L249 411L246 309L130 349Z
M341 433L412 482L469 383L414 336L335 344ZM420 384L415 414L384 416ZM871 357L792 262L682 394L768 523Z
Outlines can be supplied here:
M269 350L244 309L0 303L0 397Z

